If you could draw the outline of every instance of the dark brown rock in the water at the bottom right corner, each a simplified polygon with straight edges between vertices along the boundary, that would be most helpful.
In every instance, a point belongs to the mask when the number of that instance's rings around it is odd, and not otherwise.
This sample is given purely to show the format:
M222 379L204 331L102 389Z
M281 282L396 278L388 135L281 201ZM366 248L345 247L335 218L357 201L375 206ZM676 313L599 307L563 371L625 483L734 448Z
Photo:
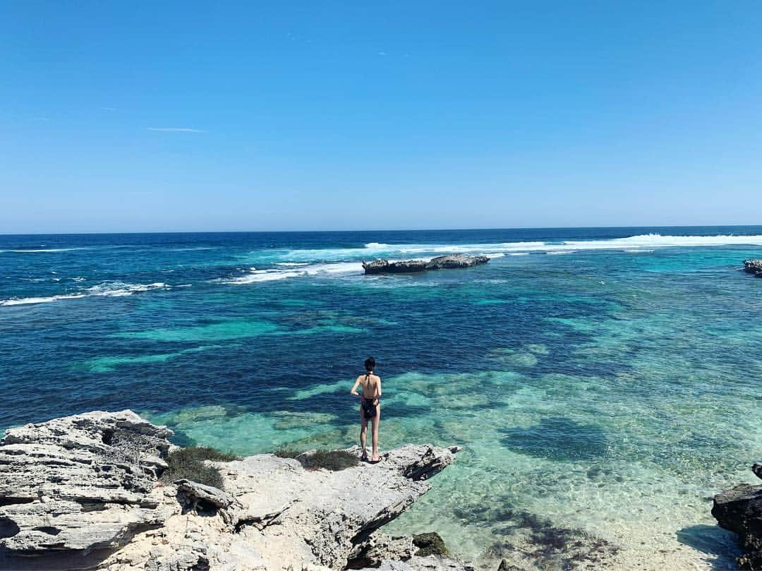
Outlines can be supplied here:
M762 465L752 471L762 478ZM739 484L714 497L712 515L722 528L738 534L744 555L738 557L741 569L762 569L762 486Z

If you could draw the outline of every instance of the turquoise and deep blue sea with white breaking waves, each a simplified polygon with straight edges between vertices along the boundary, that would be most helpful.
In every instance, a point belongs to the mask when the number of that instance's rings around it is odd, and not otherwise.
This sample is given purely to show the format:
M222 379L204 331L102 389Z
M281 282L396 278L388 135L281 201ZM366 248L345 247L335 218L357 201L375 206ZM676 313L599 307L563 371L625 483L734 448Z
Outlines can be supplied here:
M495 257L361 274L446 252ZM762 227L0 236L0 426L130 407L180 444L347 446L373 354L382 447L464 447L393 530L485 563L728 569L709 498L762 449L751 257Z

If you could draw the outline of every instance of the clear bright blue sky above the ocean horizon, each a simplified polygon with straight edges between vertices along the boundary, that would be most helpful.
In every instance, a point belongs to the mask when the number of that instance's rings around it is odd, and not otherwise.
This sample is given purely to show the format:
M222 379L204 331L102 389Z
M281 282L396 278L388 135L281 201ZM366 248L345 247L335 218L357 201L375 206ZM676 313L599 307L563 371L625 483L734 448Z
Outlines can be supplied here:
M0 233L762 223L760 30L758 2L3 2Z

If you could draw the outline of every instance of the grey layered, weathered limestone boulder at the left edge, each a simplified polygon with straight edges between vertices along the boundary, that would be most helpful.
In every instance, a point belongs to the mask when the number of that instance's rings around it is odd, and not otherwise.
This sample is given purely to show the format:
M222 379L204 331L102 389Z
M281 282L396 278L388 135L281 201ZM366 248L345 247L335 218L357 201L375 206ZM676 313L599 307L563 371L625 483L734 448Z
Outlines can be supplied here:
M119 547L168 513L153 486L168 428L130 410L88 412L6 431L0 441L0 545L44 553Z

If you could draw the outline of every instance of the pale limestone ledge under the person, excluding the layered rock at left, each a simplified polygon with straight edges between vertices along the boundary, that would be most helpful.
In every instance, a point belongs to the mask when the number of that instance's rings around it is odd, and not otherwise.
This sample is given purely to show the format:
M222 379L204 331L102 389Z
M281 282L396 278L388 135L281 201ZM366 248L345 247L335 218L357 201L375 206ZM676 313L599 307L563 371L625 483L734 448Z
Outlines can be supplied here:
M359 457L359 447L349 450ZM203 505L201 512L178 510L162 528L136 536L98 568L261 571L291 566L328 571L344 569L353 557L358 563L369 560L373 565L385 557L411 557L415 549L411 537L374 531L429 489L426 480L415 480L406 473L433 476L452 462L453 453L446 448L408 445L382 458L379 464L361 463L336 472L312 470L298 460L273 454L215 462L225 492L180 483L193 491L178 492L178 496L191 505L193 498L213 493L216 512L203 511ZM225 505L227 498L222 501L218 492L233 501ZM165 497L169 496L167 491ZM184 499L186 496L190 499ZM357 559L360 556L366 559ZM146 561L154 567L146 566ZM436 569L433 563L426 564L425 569Z

